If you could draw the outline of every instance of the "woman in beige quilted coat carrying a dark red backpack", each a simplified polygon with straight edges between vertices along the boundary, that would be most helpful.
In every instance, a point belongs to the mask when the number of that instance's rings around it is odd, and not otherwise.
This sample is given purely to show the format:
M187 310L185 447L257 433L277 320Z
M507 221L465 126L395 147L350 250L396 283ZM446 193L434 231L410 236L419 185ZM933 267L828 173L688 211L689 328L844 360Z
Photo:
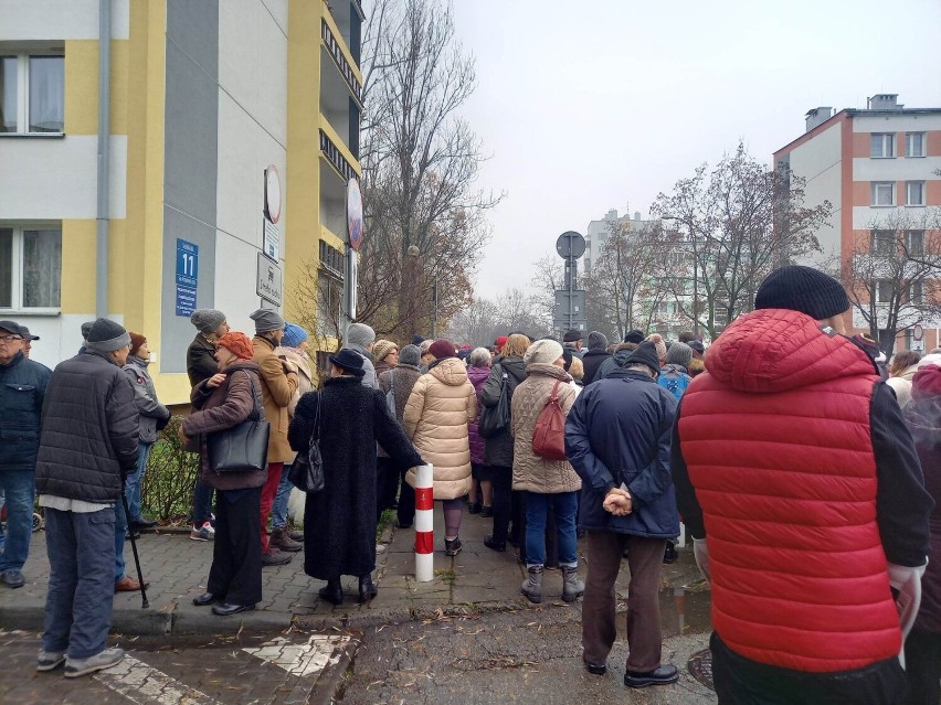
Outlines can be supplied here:
M584 592L579 578L575 536L578 492L582 481L567 460L550 460L532 450L536 420L554 394L568 414L577 393L562 368L562 345L554 340L537 340L522 357L527 377L512 395L514 461L512 487L526 492L526 567L529 573L521 591L530 602L542 601L542 572L546 563L546 521L550 508L556 516L559 566L562 568L562 599L572 602Z

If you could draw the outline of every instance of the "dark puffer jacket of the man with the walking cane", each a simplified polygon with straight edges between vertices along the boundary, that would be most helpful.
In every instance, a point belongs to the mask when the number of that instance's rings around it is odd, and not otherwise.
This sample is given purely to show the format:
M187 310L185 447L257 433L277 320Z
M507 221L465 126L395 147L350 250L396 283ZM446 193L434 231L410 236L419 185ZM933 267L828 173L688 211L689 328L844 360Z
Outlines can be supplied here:
M42 409L36 491L110 504L137 466L134 389L104 353L86 351L52 373Z

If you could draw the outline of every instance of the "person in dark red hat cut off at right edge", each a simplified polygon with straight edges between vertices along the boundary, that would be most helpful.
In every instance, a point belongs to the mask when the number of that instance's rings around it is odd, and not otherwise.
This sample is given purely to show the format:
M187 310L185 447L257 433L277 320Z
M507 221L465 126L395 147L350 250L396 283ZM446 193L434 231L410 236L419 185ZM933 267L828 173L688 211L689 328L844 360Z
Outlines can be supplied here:
M941 699L941 367L922 366L912 380L905 419L924 471L924 488L934 498L931 549L921 578L921 608L905 642L910 686L906 704L937 705Z

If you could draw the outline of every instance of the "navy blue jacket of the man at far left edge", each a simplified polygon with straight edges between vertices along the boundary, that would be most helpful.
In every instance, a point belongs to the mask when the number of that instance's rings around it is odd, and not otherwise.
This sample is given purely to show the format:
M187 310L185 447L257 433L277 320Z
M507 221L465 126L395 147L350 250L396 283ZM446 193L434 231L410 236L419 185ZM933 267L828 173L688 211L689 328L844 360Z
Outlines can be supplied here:
M0 365L0 470L36 464L42 402L52 371L17 353Z

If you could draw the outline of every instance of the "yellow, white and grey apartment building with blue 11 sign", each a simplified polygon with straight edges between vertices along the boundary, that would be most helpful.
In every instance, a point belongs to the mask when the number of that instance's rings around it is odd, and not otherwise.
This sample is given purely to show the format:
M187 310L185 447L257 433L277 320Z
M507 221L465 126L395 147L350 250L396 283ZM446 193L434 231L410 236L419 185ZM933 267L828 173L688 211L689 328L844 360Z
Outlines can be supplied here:
M0 0L0 318L75 353L145 334L186 403L195 308L340 287L360 173L359 0Z

